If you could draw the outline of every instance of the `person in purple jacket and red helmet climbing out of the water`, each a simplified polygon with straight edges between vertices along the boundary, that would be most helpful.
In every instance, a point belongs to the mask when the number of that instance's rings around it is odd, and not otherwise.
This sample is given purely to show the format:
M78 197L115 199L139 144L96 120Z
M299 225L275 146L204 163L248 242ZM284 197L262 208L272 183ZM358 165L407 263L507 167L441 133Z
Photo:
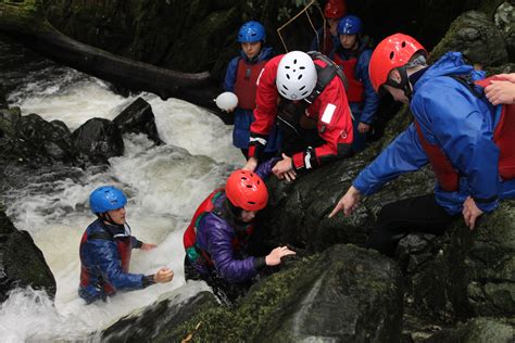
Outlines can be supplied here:
M244 294L261 269L294 254L287 246L263 257L250 256L247 251L253 219L268 202L262 177L272 173L277 161L269 160L255 172L234 172L225 188L214 190L202 202L185 231L186 280L206 281L226 304Z

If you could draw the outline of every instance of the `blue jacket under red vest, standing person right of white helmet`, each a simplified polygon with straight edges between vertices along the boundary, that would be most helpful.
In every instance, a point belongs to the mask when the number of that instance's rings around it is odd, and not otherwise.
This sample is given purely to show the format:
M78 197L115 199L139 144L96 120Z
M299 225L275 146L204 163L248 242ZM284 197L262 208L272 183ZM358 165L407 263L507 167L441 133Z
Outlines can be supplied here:
M329 55L332 60L335 54L343 60L356 58L355 52L343 49L338 42L338 48L334 49ZM379 105L379 94L376 93L372 86L370 76L368 75L368 65L370 64L372 49L367 48L367 42L363 41L357 49L357 62L354 68L354 78L361 80L365 88L365 101L363 103L350 102L351 112L356 122L365 124L374 124L377 106Z

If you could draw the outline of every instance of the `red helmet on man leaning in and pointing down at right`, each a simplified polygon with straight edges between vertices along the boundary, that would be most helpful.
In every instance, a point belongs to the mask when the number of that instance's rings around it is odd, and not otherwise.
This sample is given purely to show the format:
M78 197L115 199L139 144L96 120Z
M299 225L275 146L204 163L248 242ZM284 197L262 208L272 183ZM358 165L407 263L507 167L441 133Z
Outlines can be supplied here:
M426 49L407 35L395 34L382 39L372 53L368 65L368 75L376 92L388 80L392 69L405 65L420 50L427 54Z

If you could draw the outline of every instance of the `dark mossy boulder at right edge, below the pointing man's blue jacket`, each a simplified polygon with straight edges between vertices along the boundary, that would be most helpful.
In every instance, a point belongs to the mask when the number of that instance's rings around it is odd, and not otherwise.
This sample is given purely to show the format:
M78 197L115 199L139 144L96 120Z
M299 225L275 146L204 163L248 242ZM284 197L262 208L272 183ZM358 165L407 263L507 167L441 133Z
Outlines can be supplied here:
M440 252L413 277L415 305L440 318L515 315L515 201L505 201L470 231L448 230Z

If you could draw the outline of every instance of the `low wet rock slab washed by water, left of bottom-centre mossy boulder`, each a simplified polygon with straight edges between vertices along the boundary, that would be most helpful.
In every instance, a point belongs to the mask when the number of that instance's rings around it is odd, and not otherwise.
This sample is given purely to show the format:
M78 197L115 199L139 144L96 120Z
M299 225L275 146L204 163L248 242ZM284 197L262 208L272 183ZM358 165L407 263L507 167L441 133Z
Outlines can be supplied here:
M193 297L184 300L184 296L178 294L180 291L185 292L184 289L179 289L172 294L164 294L158 303L148 306L141 313L120 319L102 332L102 342L154 342L164 332L191 317L219 306L211 292L200 292Z

